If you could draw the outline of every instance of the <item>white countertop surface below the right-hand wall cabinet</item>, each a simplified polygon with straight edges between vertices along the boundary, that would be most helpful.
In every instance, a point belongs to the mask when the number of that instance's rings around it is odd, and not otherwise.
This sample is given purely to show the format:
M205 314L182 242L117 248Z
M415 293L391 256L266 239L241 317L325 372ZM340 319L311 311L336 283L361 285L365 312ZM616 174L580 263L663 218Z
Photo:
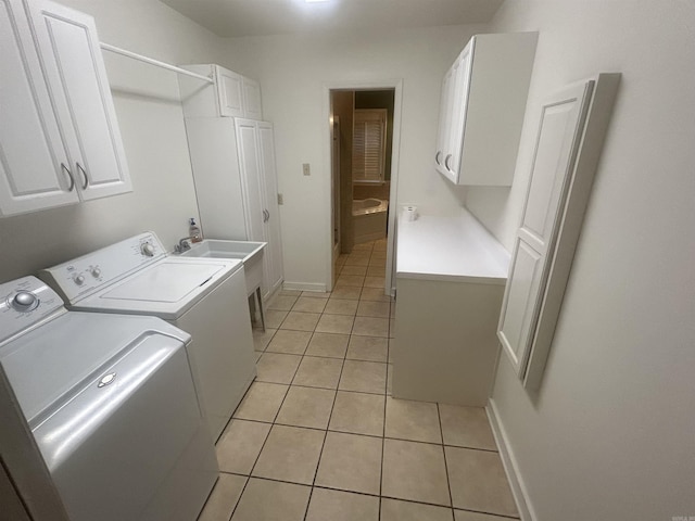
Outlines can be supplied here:
M505 284L509 253L467 209L399 217L396 277Z

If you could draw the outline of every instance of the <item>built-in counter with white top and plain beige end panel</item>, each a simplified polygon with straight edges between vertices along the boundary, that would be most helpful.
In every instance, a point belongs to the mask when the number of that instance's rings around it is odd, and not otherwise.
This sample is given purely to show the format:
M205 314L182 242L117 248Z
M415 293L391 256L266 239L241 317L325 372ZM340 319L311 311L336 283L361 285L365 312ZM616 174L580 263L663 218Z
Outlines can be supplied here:
M508 266L465 208L399 220L394 397L486 405Z

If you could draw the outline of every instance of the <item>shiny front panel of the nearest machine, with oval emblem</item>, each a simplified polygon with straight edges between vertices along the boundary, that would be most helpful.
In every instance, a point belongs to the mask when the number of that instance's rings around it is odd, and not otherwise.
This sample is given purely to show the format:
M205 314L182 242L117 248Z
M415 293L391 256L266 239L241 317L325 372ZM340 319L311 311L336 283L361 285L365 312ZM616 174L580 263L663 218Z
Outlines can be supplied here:
M200 437L201 425L184 345L149 334L76 390L34 434L71 520L123 521L150 517L146 512L160 503L163 484ZM208 472L199 468L191 481L215 479L206 437ZM151 519L194 519L197 513Z

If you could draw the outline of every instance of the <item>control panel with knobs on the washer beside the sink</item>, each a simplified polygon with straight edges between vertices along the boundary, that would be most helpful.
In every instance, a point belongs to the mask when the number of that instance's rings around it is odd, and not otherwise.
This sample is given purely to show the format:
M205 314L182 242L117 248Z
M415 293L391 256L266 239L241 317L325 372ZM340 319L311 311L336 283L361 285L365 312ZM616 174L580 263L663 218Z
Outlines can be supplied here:
M165 255L162 242L148 231L43 269L39 277L56 288L70 304L75 304Z

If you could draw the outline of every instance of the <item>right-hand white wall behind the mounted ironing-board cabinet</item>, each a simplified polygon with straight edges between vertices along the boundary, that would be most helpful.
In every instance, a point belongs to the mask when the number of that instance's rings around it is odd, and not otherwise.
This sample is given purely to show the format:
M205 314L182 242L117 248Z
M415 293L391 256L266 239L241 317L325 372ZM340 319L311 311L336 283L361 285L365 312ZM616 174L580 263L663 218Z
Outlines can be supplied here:
M515 185L467 194L507 247L541 100L623 75L540 393L504 355L495 381L534 519L695 516L695 3L521 0L492 29L540 30Z

